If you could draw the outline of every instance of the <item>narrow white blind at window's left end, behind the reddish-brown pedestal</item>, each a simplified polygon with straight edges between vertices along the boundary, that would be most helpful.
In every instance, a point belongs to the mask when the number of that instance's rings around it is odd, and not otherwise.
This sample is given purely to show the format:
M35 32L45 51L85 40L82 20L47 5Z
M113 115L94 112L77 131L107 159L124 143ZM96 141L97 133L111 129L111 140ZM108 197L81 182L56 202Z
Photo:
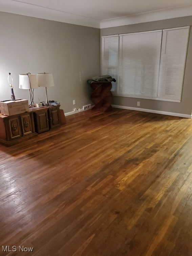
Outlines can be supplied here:
M116 92L119 70L119 36L102 38L102 75L108 74L116 79L112 91Z

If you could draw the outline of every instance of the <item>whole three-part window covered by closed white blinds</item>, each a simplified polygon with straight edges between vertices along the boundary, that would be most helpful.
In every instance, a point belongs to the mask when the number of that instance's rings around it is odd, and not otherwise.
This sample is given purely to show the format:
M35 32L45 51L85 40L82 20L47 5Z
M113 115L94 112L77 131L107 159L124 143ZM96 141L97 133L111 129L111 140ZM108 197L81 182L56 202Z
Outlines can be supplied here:
M114 95L180 102L189 27L102 37Z

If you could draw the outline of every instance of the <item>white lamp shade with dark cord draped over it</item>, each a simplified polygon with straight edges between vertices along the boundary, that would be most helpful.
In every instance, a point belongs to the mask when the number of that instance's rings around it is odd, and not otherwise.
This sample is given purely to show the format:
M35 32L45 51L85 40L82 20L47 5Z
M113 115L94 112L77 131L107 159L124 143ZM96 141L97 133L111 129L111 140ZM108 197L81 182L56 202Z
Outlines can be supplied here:
M37 77L33 74L19 74L20 89L36 89L38 88Z

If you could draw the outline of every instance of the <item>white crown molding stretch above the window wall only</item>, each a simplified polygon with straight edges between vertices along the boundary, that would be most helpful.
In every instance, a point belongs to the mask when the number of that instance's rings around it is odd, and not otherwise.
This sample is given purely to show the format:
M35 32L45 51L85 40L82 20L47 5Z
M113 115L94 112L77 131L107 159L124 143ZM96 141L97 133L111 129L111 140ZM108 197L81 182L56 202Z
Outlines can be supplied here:
M158 10L109 20L102 20L100 28L117 27L143 22L165 20L192 15L192 5Z

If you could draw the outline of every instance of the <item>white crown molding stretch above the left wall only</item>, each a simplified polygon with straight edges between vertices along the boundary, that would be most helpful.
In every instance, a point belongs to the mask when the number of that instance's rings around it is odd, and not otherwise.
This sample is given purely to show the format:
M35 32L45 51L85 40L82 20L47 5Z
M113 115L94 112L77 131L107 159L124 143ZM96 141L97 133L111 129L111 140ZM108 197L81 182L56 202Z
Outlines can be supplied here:
M60 10L49 9L33 4L23 3L12 0L0 0L0 11L5 13L20 14L29 17L41 18L76 24L87 27L100 28L100 20L74 15Z

